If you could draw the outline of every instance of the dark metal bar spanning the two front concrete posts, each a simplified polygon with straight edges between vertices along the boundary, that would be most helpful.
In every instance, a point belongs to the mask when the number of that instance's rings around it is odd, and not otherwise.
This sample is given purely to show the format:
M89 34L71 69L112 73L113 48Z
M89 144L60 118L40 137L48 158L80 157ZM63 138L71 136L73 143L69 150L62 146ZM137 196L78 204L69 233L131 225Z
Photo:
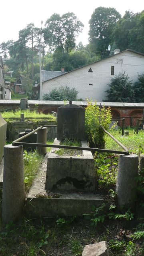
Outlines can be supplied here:
M67 149L76 149L76 150L86 150L93 152L107 152L107 153L116 153L128 155L126 151L117 151L117 150L108 150L102 148L86 148L86 147L76 147L76 146L66 146L66 145L54 145L54 144L42 144L42 143L27 143L27 142L12 142L12 146L38 146L38 147L47 147L47 148L67 148Z

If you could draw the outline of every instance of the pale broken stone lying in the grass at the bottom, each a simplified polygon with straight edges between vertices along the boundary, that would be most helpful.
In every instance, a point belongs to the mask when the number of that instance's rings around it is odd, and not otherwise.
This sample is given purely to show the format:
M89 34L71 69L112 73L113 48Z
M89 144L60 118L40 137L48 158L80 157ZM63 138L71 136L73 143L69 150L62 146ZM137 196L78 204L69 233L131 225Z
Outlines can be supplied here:
M105 241L88 244L84 247L82 256L109 256L108 245Z

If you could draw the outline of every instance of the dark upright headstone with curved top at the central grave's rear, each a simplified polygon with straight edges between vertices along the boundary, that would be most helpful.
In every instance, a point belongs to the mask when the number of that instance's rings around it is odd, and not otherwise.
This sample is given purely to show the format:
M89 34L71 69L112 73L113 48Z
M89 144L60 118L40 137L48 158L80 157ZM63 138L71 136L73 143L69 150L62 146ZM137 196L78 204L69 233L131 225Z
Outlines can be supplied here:
M57 138L63 140L70 139L84 140L84 108L68 104L58 108Z

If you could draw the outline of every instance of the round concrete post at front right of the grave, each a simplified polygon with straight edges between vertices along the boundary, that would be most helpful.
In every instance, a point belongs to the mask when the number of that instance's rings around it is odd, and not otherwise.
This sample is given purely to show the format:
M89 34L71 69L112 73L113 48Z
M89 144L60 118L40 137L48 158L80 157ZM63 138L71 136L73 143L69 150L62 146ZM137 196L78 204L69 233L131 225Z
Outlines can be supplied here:
M136 199L136 176L138 176L138 156L120 155L116 182L118 206L132 206Z

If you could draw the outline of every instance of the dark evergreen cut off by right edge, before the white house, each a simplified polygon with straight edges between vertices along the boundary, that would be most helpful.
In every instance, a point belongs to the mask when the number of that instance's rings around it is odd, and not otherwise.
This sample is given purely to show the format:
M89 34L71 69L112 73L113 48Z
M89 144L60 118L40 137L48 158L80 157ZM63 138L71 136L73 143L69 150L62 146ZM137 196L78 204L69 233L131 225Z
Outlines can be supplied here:
M144 102L144 73L138 75L138 81L134 83L134 94L136 102Z

